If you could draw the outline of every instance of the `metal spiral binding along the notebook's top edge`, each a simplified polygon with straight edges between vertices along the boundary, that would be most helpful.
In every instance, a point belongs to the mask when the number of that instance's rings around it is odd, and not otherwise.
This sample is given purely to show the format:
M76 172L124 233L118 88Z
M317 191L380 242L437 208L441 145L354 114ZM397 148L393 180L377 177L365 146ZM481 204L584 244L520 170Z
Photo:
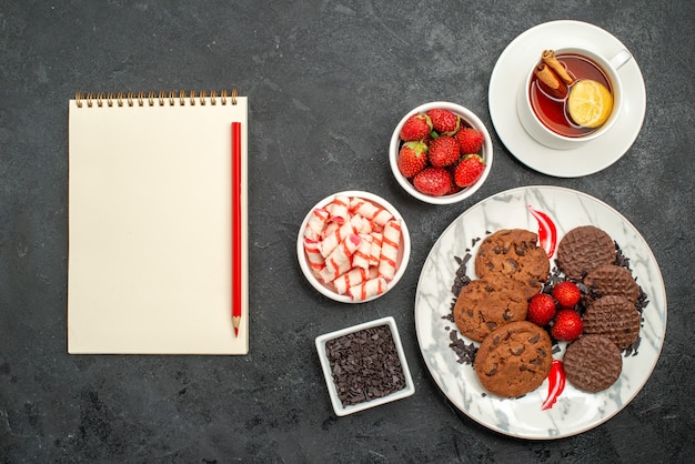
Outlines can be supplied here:
M180 90L178 92L174 90L171 90L169 92L150 91L147 93L145 92L137 92L137 93L135 92L125 92L125 93L124 92L118 92L118 93L89 92L84 94L82 92L77 92L74 94L74 101L78 108L82 108L84 105L87 105L87 108L92 108L94 104L101 108L104 105L104 103L107 104L107 107L113 107L114 103L118 107L123 107L123 105L174 107L177 105L177 102L179 107L185 107L185 105L195 107L197 104L204 107L205 104L208 104L208 102L210 102L211 105L215 105L218 104L218 101L220 102L220 104L223 104L223 105L228 104L228 101L231 104L236 104L238 97L239 97L239 93L236 92L236 89L232 89L231 93L229 93L226 90L222 90L219 94L214 90L211 91L210 93L205 92L204 90L201 91L200 93L195 92L194 90L191 90L188 93L185 92L185 90ZM210 98L210 100L208 100L208 98Z

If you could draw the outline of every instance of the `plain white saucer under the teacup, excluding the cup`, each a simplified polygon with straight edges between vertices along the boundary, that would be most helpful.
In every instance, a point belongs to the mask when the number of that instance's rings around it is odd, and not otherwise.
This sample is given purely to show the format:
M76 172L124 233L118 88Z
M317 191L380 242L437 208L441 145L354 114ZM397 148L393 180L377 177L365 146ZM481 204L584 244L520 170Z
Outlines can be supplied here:
M492 123L507 150L528 168L557 178L580 178L598 172L623 157L637 139L646 111L646 90L636 60L620 70L625 99L610 132L572 150L555 150L536 142L516 115L518 85L533 60L545 49L587 47L613 56L627 49L605 30L581 21L551 21L533 27L514 39L497 59L488 88ZM518 75L518 82L507 82Z

